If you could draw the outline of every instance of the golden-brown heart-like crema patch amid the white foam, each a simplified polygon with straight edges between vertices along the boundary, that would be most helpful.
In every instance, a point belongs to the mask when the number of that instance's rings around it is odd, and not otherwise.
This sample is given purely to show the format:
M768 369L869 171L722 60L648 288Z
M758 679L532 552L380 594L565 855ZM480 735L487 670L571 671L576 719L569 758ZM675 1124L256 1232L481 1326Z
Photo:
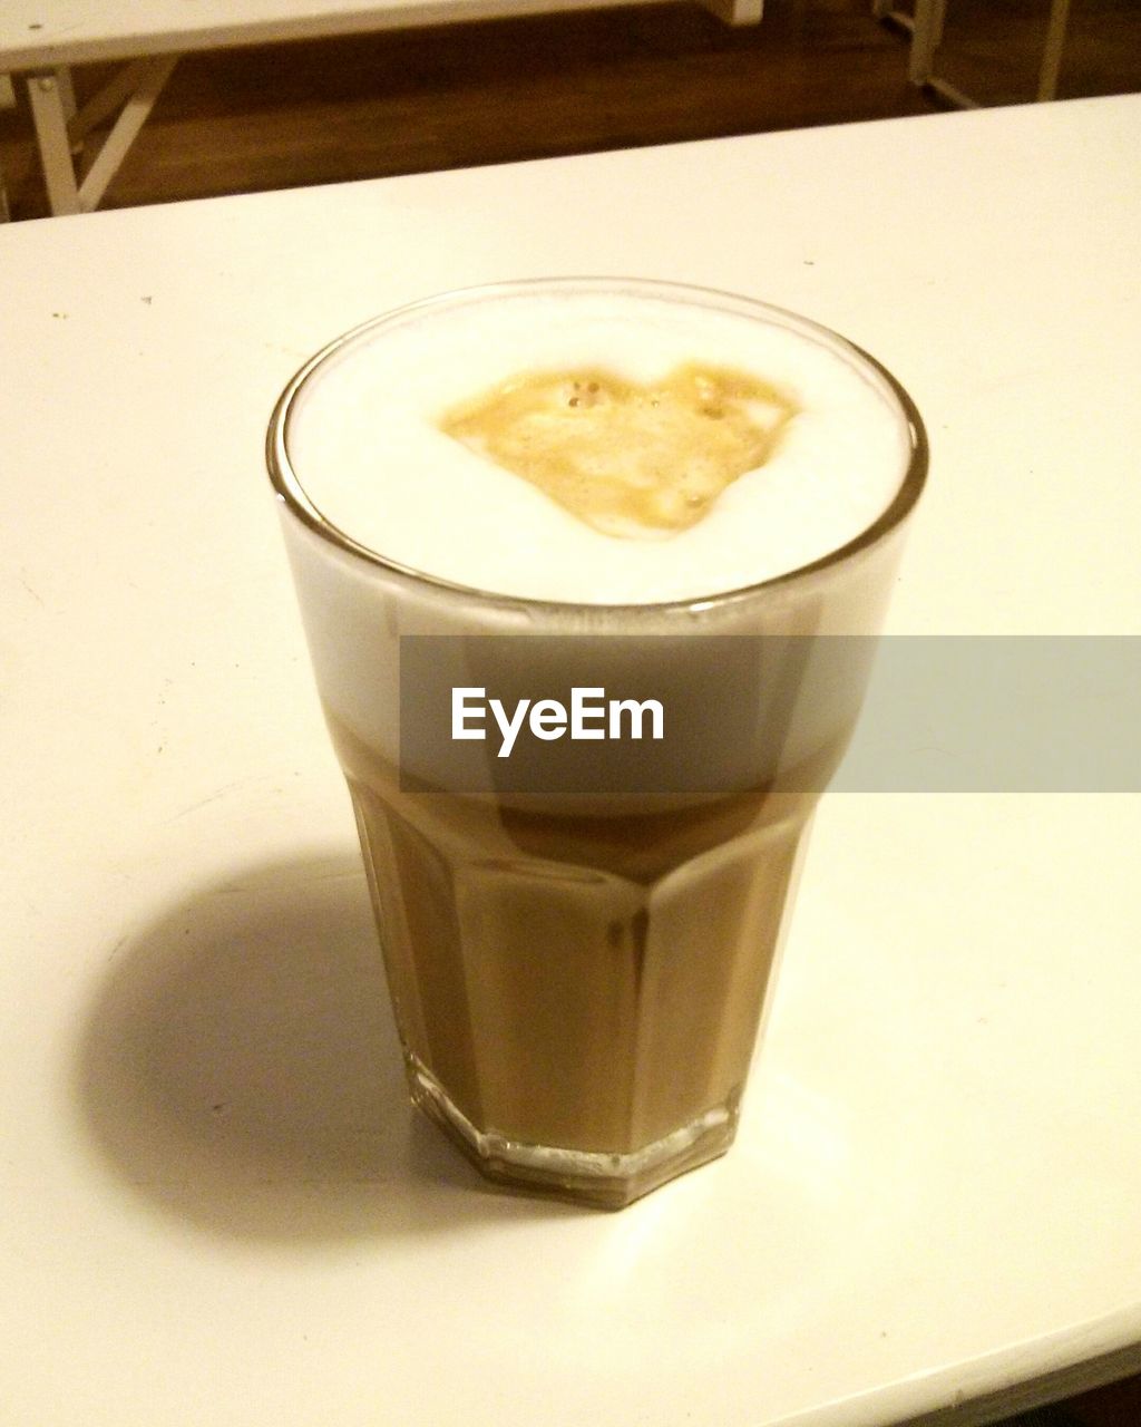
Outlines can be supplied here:
M528 372L452 408L441 430L605 535L660 538L763 465L793 415L772 384L695 362L653 384Z

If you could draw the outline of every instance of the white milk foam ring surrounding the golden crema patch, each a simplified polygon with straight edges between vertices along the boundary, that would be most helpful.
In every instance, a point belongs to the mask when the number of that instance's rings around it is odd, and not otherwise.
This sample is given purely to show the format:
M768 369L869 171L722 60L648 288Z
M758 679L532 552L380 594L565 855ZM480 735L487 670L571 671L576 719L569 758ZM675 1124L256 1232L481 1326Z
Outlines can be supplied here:
M703 519L656 539L593 529L438 427L456 404L528 372L600 367L655 382L692 362L769 381L799 411ZM886 388L826 340L619 290L412 308L308 378L288 447L325 519L388 559L495 594L616 605L737 589L839 549L883 514L910 455Z

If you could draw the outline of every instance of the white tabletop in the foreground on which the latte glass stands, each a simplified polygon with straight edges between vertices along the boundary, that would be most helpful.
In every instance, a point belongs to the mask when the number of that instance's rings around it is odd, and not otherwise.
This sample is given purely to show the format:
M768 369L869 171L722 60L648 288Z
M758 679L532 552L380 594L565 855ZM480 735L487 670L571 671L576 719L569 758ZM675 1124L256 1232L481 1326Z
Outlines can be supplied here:
M495 1194L405 1107L261 459L287 377L377 310L720 285L926 411L893 631L1137 635L1138 123L0 231L6 1420L967 1424L1141 1367L1141 802L829 796L733 1152L618 1216Z

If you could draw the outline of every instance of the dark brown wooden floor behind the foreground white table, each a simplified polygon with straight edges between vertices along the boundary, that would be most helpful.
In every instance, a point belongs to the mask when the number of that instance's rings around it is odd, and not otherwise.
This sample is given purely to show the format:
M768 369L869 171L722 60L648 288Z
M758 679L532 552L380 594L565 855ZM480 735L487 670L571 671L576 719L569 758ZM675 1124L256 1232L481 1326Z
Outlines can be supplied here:
M951 0L943 71L987 103L1030 100L1044 13ZM1085 0L1063 96L1141 88L1140 21L1138 0ZM106 73L78 71L80 94ZM104 207L934 108L906 73L870 0L767 0L746 30L679 3L191 56ZM0 113L0 167L13 218L46 214L23 96ZM1018 1421L1141 1427L1141 1378Z

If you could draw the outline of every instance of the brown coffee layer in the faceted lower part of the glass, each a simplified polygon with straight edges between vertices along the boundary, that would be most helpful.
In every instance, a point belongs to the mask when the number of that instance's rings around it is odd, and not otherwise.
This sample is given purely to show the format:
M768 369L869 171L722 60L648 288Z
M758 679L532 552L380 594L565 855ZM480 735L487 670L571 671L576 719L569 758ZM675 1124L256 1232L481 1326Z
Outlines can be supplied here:
M408 792L328 718L401 1040L468 1122L626 1154L736 1106L813 795L523 812Z

